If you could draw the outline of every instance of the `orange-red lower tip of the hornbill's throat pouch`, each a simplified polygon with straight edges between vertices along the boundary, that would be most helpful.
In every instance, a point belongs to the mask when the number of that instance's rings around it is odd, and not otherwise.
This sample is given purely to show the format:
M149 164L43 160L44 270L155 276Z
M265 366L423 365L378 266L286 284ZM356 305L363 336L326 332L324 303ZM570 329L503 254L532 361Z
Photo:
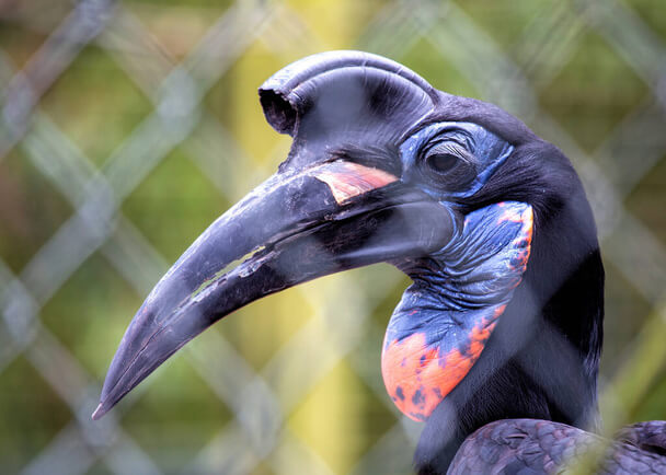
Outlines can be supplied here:
M504 306L497 309L502 313ZM495 322L482 323L469 334L469 349L440 355L429 346L424 333L401 341L384 341L381 373L389 395L398 408L414 420L426 420L437 405L462 381L479 359Z

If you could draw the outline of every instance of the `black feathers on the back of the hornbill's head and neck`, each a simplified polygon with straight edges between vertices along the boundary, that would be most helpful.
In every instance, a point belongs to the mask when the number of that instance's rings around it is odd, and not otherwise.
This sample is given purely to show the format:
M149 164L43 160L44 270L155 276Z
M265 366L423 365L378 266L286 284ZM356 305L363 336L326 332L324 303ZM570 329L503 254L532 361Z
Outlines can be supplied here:
M489 126L507 115L482 107L466 109L479 115L443 116ZM518 142L512 157L459 205L468 212L504 200L530 204L531 256L481 358L426 424L414 459L420 474L445 473L464 438L497 419L530 417L583 428L597 421L604 266L594 217L564 154L516 127L508 137Z

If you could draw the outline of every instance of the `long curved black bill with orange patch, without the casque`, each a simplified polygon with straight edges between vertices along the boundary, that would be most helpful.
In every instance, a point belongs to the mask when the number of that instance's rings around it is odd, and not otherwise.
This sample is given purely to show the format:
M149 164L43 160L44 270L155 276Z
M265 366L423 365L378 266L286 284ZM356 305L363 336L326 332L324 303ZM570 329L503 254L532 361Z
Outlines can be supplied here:
M273 175L218 218L148 296L111 363L93 418L234 310L317 277L427 255L449 242L455 221L423 192L357 163Z

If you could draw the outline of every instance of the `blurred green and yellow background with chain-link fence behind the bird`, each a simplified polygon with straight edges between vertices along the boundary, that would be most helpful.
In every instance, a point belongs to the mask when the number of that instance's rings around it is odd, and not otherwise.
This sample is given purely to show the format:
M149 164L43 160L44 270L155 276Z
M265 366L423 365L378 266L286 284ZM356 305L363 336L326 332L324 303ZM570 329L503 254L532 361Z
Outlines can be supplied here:
M571 158L607 269L602 413L666 419L662 0L0 0L0 472L410 473L380 376L409 283L374 266L226 318L90 420L143 298L284 160L256 89L384 55Z

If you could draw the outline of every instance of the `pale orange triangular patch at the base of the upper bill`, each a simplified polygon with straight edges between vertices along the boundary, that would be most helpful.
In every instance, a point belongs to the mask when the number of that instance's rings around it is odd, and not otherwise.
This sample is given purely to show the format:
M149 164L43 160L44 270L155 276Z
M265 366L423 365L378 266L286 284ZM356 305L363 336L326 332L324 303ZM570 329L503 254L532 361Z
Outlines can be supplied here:
M342 160L318 166L312 172L312 176L329 185L338 205L398 181L397 176L383 170Z

